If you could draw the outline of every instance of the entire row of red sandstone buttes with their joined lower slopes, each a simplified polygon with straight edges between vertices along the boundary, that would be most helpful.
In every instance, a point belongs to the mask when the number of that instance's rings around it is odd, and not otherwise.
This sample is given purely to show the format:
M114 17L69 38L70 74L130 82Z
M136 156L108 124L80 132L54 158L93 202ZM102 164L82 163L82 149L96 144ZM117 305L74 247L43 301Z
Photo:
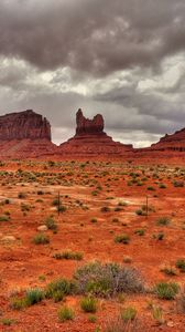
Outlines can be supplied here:
M185 160L185 128L165 135L148 148L115 142L106 134L104 117L86 118L78 110L76 134L56 146L52 143L51 124L32 110L0 116L0 158L172 158Z

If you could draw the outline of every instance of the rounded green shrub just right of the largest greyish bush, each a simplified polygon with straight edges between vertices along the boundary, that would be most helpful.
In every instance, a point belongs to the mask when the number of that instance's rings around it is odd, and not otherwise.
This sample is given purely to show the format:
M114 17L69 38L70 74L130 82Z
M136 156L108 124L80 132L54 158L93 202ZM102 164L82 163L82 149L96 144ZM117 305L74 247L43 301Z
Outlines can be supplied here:
M179 287L175 282L160 282L154 287L159 299L173 300L178 293Z

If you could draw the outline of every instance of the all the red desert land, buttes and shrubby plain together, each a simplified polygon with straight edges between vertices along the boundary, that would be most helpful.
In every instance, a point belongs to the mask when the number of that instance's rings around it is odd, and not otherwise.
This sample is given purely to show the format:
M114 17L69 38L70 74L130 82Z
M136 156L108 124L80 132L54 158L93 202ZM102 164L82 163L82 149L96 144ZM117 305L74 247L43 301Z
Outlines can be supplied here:
M1 331L184 331L185 141L137 151L76 117L61 146L32 111L1 125Z

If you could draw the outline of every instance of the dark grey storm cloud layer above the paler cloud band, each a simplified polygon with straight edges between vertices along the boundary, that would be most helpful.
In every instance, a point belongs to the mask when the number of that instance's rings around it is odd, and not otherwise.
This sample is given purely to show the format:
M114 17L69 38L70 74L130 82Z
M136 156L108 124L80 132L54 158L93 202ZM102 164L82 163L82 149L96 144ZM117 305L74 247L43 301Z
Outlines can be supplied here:
M0 53L104 75L185 50L184 0L1 0Z

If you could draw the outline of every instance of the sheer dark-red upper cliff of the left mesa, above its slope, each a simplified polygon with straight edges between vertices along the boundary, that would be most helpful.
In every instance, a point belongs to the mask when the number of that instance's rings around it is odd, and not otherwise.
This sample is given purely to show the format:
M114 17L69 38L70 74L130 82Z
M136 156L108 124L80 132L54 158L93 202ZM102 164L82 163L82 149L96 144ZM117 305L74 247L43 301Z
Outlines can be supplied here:
M32 110L0 116L0 141L12 139L51 141L51 125Z

